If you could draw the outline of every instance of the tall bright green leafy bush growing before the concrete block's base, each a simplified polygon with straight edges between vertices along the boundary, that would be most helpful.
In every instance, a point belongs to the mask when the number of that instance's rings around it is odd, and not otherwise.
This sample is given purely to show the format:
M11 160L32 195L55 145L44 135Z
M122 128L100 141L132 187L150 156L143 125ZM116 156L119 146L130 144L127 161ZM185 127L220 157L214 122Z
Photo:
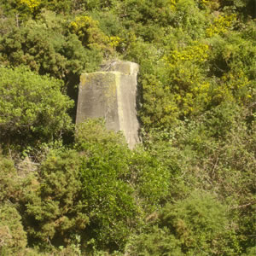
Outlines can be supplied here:
M130 150L124 137L107 131L101 120L80 124L76 142L84 155L80 178L90 216L87 234L95 239L97 248L122 249L137 218L134 190L129 184Z

